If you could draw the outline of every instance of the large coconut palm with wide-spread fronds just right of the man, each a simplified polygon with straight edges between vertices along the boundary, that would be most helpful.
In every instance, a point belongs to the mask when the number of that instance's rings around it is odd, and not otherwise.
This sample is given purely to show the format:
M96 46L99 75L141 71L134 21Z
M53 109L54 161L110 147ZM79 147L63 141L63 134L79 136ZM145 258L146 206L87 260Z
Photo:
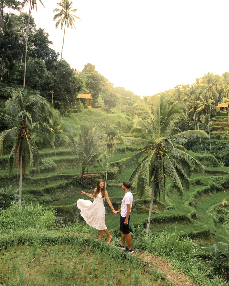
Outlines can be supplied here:
M131 133L137 137L121 137L123 142L132 146L145 147L125 161L118 174L125 168L134 166L137 168L131 176L133 186L139 196L144 192L145 185L152 186L152 196L147 223L146 239L149 234L149 226L153 207L153 198L160 194L165 197L165 181L170 179L180 197L183 196L183 187L189 187L188 176L194 167L199 172L204 167L192 156L178 149L178 145L185 144L188 140L198 137L208 138L205 131L188 130L173 134L175 124L185 117L185 106L173 103L168 108L171 99L159 96L154 102L151 112L149 104L140 101L136 104L141 116L135 115L134 127ZM153 184L151 182L153 178Z

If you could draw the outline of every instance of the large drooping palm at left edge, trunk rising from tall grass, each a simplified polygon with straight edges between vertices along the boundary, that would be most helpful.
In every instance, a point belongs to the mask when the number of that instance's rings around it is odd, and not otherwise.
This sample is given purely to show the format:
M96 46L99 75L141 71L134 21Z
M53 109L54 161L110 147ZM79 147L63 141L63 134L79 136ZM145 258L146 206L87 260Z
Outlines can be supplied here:
M39 154L31 134L35 132L43 137L53 147L54 132L45 122L52 117L52 109L48 101L34 91L20 89L11 92L11 98L5 103L5 114L0 113L0 123L9 129L0 133L0 150L3 145L11 144L13 147L8 159L9 174L16 163L19 175L19 207L21 207L22 172L25 174L26 165L36 165L39 171Z

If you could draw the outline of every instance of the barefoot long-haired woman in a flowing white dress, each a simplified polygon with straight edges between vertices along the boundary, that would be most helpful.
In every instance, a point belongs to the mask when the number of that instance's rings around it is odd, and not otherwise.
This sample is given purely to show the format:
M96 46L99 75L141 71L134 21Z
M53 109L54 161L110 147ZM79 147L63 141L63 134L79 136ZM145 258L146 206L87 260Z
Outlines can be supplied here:
M105 232L107 235L106 243L110 243L112 236L110 235L104 221L106 210L103 205L103 198L106 197L106 200L112 212L115 213L115 209L113 208L108 193L105 189L104 180L99 179L97 181L97 186L94 189L93 195L83 191L81 192L81 194L87 195L88 197L94 199L93 203L89 200L78 199L77 207L78 209L80 209L81 216L84 218L87 224L99 230L99 238L97 238L96 240L103 239L103 232Z

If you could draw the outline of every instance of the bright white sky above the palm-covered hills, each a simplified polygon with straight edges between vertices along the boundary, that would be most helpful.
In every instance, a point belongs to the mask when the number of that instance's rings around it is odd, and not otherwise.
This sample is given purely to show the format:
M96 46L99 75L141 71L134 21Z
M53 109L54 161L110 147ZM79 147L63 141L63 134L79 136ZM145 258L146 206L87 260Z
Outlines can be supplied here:
M32 16L61 53L64 30L53 21L57 0L42 2L46 9L39 3ZM90 62L115 86L141 96L192 84L208 71L228 71L227 0L72 2L81 18L65 34L63 57L72 68L81 71Z

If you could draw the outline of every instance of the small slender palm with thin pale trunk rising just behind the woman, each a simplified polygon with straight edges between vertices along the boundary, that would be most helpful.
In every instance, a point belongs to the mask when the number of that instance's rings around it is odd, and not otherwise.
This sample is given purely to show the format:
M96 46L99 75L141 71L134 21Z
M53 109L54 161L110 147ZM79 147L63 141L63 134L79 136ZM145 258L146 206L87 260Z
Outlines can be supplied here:
M113 125L109 125L103 131L103 140L106 142L106 152L108 154L107 164L106 164L106 180L105 180L105 187L107 182L107 173L108 173L108 164L109 164L109 156L112 155L113 152L116 151L117 145L116 140L118 139L119 132Z

